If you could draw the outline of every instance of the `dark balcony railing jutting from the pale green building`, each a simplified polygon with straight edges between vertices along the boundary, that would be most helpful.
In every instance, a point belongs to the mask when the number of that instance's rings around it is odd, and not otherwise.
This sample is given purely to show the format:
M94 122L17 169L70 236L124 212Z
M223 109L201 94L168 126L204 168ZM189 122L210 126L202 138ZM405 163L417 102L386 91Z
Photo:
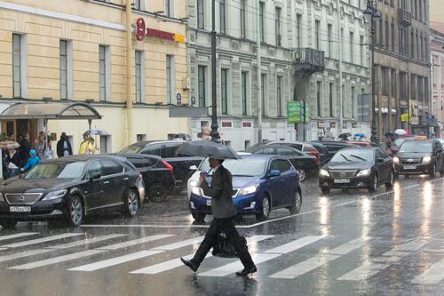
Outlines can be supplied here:
M321 72L325 68L325 54L313 48L297 48L295 50L295 64L297 72L308 74Z

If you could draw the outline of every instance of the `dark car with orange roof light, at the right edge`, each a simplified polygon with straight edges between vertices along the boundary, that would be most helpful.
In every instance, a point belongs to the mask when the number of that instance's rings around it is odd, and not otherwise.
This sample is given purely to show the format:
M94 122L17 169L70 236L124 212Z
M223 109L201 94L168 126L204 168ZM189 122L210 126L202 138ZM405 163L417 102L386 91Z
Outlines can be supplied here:
M393 157L396 172L400 175L436 172L444 175L444 153L440 140L406 140Z

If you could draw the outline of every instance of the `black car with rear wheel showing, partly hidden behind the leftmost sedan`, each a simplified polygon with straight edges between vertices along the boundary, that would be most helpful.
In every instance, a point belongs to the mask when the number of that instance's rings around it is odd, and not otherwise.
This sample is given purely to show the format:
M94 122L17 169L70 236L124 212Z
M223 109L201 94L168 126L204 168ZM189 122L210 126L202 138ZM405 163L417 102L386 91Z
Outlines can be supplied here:
M147 188L147 198L155 203L163 202L174 191L173 168L161 156L120 155L125 157L142 174Z

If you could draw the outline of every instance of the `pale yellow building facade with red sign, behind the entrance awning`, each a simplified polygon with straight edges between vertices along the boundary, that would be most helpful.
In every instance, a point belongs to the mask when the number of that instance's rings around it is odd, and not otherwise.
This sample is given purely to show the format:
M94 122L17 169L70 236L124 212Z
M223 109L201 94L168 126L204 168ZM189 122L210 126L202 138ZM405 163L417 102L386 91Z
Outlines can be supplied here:
M170 118L177 98L188 100L186 4L132 2L127 12L125 0L2 1L1 100L87 102L102 116L92 127L111 134L99 137L101 152L189 132L188 119ZM15 139L34 138L43 121L2 127ZM48 123L57 137L67 132L75 148L88 128L87 121Z

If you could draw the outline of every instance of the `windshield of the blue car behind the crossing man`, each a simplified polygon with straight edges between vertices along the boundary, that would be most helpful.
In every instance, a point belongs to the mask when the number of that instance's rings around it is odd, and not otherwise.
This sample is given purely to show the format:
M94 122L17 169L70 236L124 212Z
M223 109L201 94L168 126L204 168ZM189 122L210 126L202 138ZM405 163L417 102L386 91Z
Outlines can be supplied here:
M266 159L244 158L244 159L226 159L224 167L231 172L233 176L256 177L264 174L266 171ZM207 171L212 175L208 158L206 158L200 168L200 171Z

